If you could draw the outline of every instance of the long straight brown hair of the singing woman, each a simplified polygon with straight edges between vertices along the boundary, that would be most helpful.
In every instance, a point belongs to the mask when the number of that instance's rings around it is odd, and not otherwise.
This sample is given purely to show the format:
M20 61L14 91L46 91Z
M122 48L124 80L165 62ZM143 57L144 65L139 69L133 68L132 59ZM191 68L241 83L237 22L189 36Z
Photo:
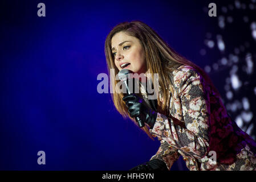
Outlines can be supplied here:
M113 57L113 54L111 52L111 39L117 32L121 31L129 36L134 36L135 38L140 40L140 43L144 48L147 70L149 71L149 73L152 74L159 73L159 86L160 88L163 88L161 90L161 93L164 101L161 102L159 99L157 99L157 112L165 115L169 114L169 91L173 94L173 85L169 79L168 73L170 71L174 71L180 65L188 65L190 67L193 67L205 78L206 81L212 84L209 76L200 67L174 51L147 24L136 20L132 22L123 22L117 24L117 26L113 27L111 32L109 32L105 40L105 56L108 65L108 75L112 79L111 86L113 90L115 90L115 86L119 81L115 80L115 77L111 76L110 69L115 69L115 75L119 72L119 70L115 66L115 58ZM152 77L152 82L154 82L153 79L154 78ZM214 87L214 85L213 89L214 91L216 91L217 94L219 94L218 90ZM125 106L125 102L122 100L124 94L114 92L111 93L111 96L113 104L115 105L117 111L119 111L119 113L123 115L124 118L129 117L137 125L135 119L129 116L128 109ZM152 135L149 133L148 126L144 126L142 129L148 134L150 138L152 138Z

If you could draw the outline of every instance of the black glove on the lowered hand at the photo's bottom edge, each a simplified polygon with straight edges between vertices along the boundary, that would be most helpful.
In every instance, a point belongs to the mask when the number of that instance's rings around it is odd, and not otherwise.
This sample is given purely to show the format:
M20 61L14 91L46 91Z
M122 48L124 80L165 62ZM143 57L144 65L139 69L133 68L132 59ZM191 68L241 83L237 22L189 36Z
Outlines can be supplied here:
M169 171L166 164L159 159L152 159L147 163L133 167L129 171Z

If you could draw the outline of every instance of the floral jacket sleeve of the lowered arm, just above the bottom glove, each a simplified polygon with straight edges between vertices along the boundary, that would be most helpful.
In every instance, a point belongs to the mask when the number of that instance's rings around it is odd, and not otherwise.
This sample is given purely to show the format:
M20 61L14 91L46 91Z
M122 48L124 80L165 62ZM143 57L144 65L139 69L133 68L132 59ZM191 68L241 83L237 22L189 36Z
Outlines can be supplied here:
M173 163L179 158L180 154L175 148L170 147L170 145L165 142L165 140L160 139L160 147L155 155L152 156L152 159L159 159L165 162L168 170L172 167Z

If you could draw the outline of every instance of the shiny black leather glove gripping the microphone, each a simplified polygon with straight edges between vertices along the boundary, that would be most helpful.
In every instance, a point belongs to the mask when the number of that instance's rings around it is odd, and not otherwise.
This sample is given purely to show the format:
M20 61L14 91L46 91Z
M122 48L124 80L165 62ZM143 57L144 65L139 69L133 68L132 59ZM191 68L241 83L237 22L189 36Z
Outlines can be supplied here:
M125 105L128 107L128 113L133 117L140 117L140 119L148 123L151 129L155 125L157 118L157 111L152 110L145 104L145 101L136 94L128 94L123 97Z

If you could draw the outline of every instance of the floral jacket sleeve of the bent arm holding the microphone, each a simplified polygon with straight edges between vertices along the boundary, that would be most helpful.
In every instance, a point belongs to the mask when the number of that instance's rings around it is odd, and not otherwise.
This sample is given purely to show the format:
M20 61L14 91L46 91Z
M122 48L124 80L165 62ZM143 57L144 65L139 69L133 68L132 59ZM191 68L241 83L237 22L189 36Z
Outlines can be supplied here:
M204 157L209 146L209 97L203 85L202 77L193 69L174 74L174 116L168 118L157 113L152 129L152 134L164 139L179 153L195 158Z

